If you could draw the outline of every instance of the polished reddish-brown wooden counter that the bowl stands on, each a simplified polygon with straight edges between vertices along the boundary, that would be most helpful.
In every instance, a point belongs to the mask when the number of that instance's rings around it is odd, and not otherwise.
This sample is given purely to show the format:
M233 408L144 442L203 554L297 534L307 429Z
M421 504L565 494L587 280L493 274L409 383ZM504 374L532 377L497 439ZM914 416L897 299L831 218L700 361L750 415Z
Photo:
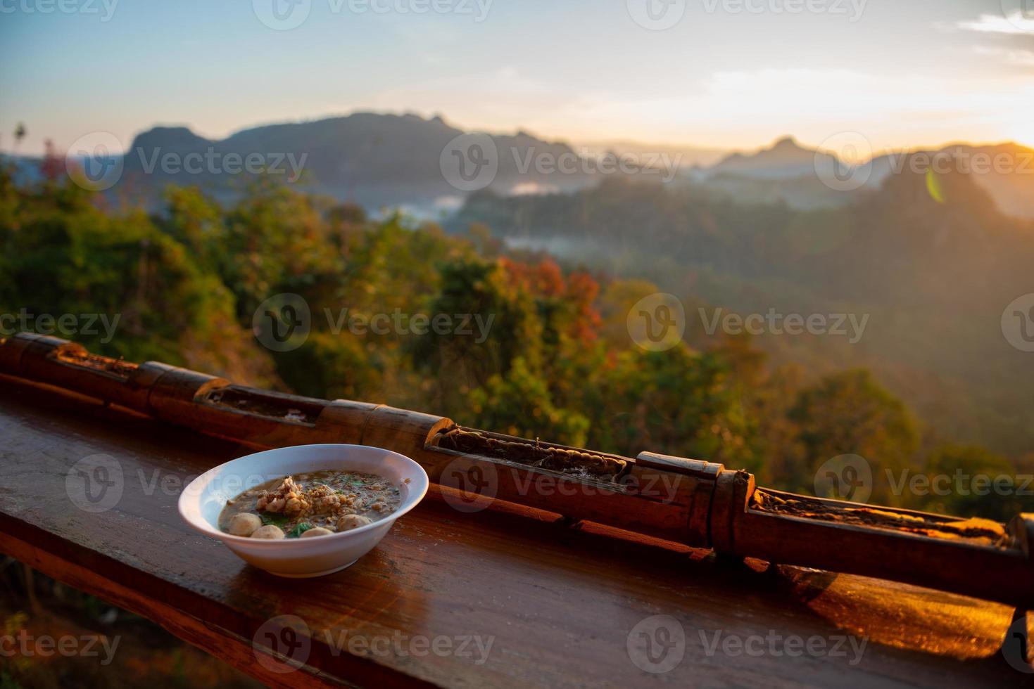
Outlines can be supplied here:
M191 531L176 508L189 477L249 447L13 378L0 389L0 551L270 685L1030 686L998 652L1004 605L717 559L524 508L465 513L437 495L351 568L277 578ZM100 512L66 491L73 465L95 455L122 474L121 498ZM650 674L628 647L659 615L685 631L685 656ZM279 616L299 618L300 635L285 635ZM269 630L301 639L284 648L304 666L254 644ZM868 637L860 658L850 643L845 655L783 646L845 635ZM759 637L774 640L727 643Z

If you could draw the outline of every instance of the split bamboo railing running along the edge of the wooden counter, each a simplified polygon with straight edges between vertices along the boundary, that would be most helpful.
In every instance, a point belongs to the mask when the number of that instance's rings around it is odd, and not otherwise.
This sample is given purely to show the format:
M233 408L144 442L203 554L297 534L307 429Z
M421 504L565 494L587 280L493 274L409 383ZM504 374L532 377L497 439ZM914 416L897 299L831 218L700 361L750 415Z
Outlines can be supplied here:
M158 363L90 354L57 338L0 343L0 373L263 447L375 445L406 455L458 500L517 503L694 547L850 572L1034 607L1034 515L986 520L810 498L705 461L637 458L462 429L386 405L234 385Z

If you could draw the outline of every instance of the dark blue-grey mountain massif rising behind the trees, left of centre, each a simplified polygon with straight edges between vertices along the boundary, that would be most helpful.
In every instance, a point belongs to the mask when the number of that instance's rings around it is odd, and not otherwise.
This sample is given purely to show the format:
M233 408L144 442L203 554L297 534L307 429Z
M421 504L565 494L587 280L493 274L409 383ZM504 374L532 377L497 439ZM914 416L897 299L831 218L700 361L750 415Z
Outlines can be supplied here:
M124 179L151 188L170 182L218 186L231 176L208 171L170 174L160 169L147 174L146 162L153 160L155 153L179 156L207 151L217 156L257 153L270 156L270 164L276 156L283 155L303 161L303 182L308 191L368 209L388 206L448 210L458 206L461 192L445 179L439 158L450 142L463 133L440 117L424 119L416 115L372 113L254 127L221 140L203 138L184 127L155 127L133 139L125 158ZM536 155L574 155L566 144L545 142L525 132L491 138L498 151L493 188L504 193L514 191L519 185L528 188L543 185L544 190L562 191L584 187L589 182L580 175L551 179L534 167L521 173L522 156L528 150ZM283 167L287 169L286 165Z

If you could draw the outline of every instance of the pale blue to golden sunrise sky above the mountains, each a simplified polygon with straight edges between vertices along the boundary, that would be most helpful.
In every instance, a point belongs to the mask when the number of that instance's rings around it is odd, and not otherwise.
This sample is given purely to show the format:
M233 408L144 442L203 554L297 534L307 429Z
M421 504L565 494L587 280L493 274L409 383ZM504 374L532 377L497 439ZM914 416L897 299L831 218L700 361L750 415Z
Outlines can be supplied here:
M37 154L356 111L573 143L1034 146L1034 0L0 0L0 150L19 122Z

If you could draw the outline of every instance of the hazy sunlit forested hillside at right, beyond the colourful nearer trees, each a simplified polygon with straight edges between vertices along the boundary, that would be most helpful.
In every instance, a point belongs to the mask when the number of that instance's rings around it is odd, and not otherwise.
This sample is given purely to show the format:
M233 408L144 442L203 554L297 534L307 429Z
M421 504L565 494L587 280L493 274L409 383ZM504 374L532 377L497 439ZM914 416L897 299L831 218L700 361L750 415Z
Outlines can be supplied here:
M1001 319L1034 291L1034 222L1001 213L969 175L908 169L840 209L608 180L574 194L482 192L450 226L484 223L511 246L549 247L737 314L868 319L854 342L765 333L755 344L812 374L871 368L941 435L1029 451L1034 359ZM691 337L711 339L706 319L689 321Z

